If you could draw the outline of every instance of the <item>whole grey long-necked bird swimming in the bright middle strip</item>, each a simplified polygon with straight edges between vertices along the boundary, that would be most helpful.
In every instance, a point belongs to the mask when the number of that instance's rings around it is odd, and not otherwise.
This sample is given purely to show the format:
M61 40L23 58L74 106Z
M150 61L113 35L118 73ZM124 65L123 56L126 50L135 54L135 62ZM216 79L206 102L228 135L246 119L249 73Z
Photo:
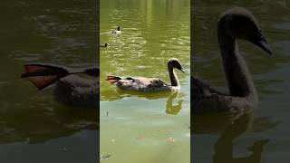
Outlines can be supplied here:
M174 72L174 68L184 72L180 62L176 58L172 58L168 62L168 71L171 84L161 81L158 78L145 77L127 77L121 78L117 76L108 76L107 81L111 84L116 82L116 86L122 90L131 91L179 91L179 79Z

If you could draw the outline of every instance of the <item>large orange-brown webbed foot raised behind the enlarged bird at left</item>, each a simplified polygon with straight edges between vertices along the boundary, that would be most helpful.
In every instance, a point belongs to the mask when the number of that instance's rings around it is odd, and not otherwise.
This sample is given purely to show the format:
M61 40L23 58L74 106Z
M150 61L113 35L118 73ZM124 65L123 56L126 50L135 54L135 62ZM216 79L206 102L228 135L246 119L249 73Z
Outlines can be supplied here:
M39 90L71 74L63 67L50 64L26 64L24 68L25 73L21 75L21 78L27 78L30 82L34 83Z

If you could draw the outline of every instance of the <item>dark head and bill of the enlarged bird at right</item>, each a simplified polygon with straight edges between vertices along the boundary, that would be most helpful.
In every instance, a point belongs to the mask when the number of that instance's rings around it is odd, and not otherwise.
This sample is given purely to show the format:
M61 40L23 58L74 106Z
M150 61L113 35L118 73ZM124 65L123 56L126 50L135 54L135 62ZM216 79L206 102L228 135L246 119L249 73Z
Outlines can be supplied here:
M218 20L218 33L226 34L233 39L247 40L262 48L266 53L272 54L256 18L244 8L234 7L222 14Z

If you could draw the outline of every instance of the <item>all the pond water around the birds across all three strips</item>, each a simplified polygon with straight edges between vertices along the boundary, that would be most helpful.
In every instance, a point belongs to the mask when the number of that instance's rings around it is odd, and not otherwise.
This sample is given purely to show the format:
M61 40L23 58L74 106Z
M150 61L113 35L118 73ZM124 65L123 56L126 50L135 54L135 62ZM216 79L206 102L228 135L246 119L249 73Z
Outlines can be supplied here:
M0 162L51 163L273 163L289 157L290 4L288 1L102 0L100 19L101 109L53 101L20 79L27 62L95 65L95 1L3 0L0 5ZM226 90L217 21L232 6L247 7L261 24L274 55L240 41L260 105L233 120L191 115L189 72ZM190 53L190 22L192 55ZM121 26L122 34L111 30ZM179 94L119 91L107 75L159 77L169 82L176 57ZM194 104L191 104L194 105ZM100 116L100 156L98 120ZM190 129L191 128L191 134ZM189 140L191 139L191 141ZM191 151L190 144L191 142ZM106 158L107 157L107 158Z

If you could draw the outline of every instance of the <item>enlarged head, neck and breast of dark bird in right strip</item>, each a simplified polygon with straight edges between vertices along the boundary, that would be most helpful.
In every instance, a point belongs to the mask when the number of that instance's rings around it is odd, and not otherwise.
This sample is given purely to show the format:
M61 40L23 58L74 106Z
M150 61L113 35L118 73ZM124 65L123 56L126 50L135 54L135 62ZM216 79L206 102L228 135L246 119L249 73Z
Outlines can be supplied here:
M245 112L257 107L258 96L247 63L238 51L242 39L272 54L257 25L256 18L244 8L235 7L218 20L218 44L229 93L218 91L197 77L191 77L193 112Z

